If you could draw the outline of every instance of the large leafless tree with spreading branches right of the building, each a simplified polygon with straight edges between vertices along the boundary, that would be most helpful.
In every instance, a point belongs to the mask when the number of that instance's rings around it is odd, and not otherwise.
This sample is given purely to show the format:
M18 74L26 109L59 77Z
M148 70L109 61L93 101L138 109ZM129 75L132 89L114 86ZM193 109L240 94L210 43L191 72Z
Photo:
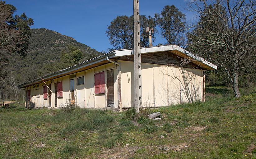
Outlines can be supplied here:
M195 0L189 3L200 20L188 34L189 49L222 67L240 97L238 76L245 68L255 69L255 1Z

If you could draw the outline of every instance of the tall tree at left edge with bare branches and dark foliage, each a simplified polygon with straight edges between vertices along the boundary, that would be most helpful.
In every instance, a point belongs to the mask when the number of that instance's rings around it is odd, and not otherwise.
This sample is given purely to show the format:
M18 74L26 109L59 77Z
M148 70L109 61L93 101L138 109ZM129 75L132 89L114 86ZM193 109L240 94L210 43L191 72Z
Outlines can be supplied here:
M10 57L12 54L26 56L31 36L30 26L34 23L33 19L27 18L25 13L20 16L14 15L16 10L13 5L0 1L0 91L2 98L9 89L7 74L12 62ZM13 84L13 76L10 81ZM17 90L15 92L17 93ZM17 100L17 94L15 98Z

